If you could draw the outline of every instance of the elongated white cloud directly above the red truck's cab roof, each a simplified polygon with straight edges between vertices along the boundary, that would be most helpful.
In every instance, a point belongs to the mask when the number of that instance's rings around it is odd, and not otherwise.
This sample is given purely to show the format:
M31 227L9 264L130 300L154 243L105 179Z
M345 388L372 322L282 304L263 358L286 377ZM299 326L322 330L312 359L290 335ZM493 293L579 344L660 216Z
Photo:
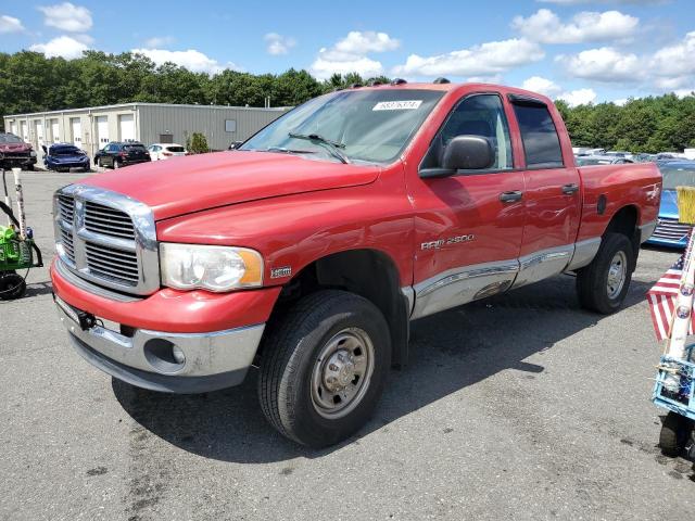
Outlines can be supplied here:
M394 74L407 76L490 76L543 60L538 43L523 38L489 41L446 54L420 56L410 54Z

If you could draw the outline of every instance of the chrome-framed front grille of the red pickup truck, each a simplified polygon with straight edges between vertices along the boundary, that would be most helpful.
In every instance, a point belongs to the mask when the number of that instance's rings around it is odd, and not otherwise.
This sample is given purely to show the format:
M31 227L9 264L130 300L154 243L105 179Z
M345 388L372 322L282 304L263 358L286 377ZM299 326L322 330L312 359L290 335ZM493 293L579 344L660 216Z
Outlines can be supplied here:
M160 288L159 246L148 206L119 193L71 185L56 192L53 209L60 258L77 277L138 295Z

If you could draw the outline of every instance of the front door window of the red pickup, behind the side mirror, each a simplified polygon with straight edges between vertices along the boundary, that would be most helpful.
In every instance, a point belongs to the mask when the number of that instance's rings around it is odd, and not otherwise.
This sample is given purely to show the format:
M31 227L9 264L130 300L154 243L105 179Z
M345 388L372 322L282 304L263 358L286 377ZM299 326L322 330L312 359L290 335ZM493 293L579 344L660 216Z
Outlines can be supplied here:
M502 100L497 94L475 94L464 98L448 115L434 138L421 168L441 167L446 144L457 136L477 136L490 142L495 157L490 170L505 170L514 167L509 125Z

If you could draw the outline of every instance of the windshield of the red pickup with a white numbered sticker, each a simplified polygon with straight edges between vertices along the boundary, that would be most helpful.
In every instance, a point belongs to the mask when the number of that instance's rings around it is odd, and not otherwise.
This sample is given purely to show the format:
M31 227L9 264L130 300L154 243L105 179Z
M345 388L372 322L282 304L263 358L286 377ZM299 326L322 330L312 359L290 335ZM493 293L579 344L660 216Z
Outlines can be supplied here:
M238 150L315 154L331 161L339 161L337 155L342 154L349 161L391 162L443 92L382 89L351 89L311 100L273 122Z

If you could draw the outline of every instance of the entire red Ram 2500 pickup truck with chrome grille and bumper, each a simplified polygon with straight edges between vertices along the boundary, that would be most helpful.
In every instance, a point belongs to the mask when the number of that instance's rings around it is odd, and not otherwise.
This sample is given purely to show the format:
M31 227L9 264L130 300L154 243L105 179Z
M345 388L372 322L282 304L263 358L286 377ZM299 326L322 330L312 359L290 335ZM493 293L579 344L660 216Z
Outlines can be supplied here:
M257 366L269 422L325 446L374 411L413 320L568 271L617 310L660 189L653 164L578 168L547 98L399 80L59 190L51 278L92 365L174 393Z

